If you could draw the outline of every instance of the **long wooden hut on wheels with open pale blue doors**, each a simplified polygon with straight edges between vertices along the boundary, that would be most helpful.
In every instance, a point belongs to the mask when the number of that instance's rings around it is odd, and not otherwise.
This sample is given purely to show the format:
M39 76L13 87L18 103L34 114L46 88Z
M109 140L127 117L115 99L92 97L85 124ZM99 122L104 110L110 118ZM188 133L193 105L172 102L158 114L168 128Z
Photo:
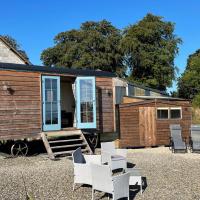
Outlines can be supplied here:
M0 141L115 132L113 78L104 71L0 63Z

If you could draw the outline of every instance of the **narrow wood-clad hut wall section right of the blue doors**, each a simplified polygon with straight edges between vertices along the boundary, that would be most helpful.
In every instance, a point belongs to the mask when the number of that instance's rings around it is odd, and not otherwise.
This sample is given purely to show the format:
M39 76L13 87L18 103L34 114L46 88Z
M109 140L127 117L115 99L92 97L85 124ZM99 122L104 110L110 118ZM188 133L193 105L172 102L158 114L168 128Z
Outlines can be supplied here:
M97 129L114 132L114 108L112 78L96 77Z

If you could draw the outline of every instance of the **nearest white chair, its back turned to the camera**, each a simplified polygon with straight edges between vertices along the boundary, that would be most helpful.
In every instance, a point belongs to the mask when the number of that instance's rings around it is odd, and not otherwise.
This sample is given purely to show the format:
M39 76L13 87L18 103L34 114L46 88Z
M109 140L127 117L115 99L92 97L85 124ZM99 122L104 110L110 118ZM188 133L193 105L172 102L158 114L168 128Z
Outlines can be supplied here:
M129 173L112 176L107 165L91 164L92 172L92 200L95 190L112 194L113 200L120 198L129 199Z

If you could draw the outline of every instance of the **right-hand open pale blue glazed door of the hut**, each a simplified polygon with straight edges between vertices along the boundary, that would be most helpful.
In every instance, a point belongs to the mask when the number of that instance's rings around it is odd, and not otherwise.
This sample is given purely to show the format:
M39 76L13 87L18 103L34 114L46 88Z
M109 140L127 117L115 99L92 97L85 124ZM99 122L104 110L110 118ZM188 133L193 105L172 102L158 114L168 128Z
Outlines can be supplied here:
M96 128L95 77L76 79L77 128Z

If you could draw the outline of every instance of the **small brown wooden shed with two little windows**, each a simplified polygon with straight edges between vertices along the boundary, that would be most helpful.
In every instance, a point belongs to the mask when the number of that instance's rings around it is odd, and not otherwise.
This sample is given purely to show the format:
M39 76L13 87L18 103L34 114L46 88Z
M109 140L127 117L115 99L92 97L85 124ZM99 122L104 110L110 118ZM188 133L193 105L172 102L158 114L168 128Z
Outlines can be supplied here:
M189 136L192 109L189 101L170 97L124 97L119 105L120 146L169 145L170 124L180 124Z

